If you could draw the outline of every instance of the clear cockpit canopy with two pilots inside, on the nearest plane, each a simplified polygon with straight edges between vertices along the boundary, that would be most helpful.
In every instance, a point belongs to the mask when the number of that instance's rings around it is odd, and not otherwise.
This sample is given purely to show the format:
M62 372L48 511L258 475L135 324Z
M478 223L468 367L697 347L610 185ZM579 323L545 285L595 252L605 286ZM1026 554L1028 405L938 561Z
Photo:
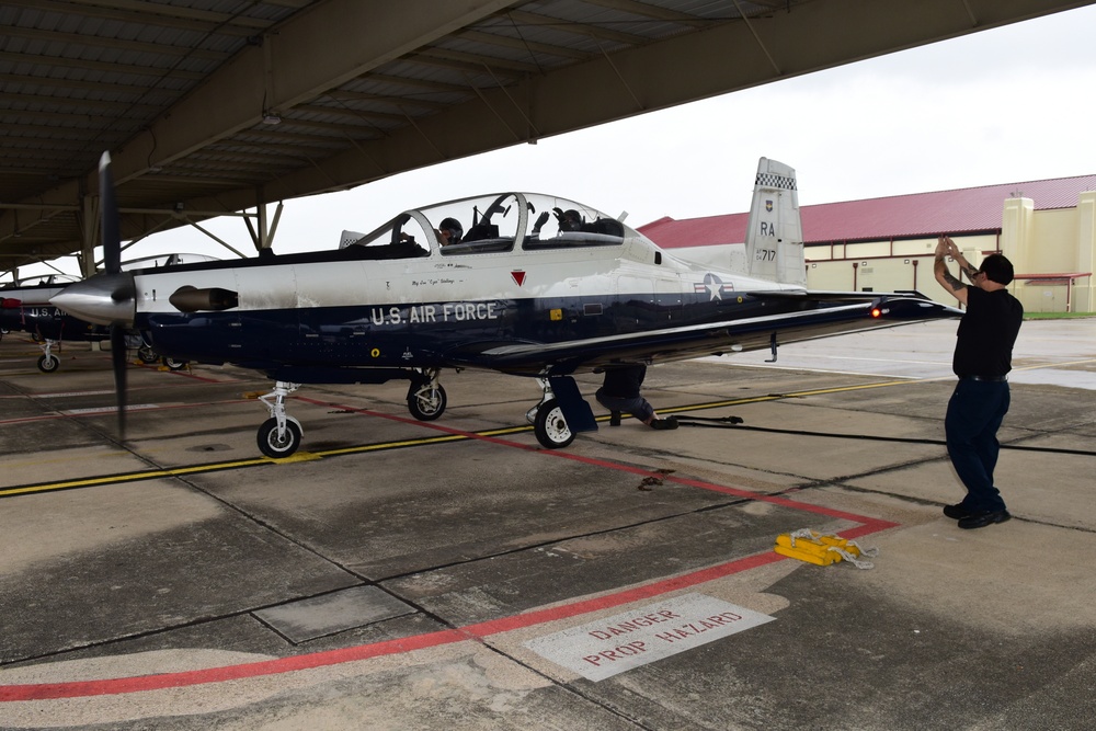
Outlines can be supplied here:
M574 201L503 193L407 210L367 235L343 231L340 248L390 247L397 256L453 256L515 248L620 245L637 236L619 220Z

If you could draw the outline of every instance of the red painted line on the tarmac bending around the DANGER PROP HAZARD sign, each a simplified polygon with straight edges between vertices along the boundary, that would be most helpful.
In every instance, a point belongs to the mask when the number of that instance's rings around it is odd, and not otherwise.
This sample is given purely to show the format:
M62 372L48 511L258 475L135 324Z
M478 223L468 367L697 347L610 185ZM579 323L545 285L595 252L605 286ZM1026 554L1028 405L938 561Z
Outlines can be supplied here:
M849 539L877 533L879 530L884 530L887 528L892 528L899 525L898 523L892 523L890 521L867 517L864 515L856 515L854 513L831 510L827 507L810 505L807 503L799 503L794 500L789 500L787 498L780 498L775 495L763 495L750 492L747 490L728 488L688 478L675 478L659 472L652 472L651 470L647 470L639 467L620 465L617 462L610 462L607 460L596 459L592 457L582 457L579 455L573 455L557 449L539 449L538 447L532 447L528 445L518 444L516 442L510 442L507 439L500 439L496 437L482 436L479 434L475 434L472 432L464 432L460 430L442 426L441 424L423 423L411 419L395 416L392 414L385 414L380 412L369 411L366 409L357 409L354 407L340 406L336 403L323 402L313 399L301 398L300 400L308 403L312 403L315 406L328 406L342 410L355 411L363 414L383 416L385 419L391 419L395 421L413 423L420 426L429 426L430 429L434 429L441 432L467 435L470 438L482 439L486 442L501 444L510 447L516 447L529 452L539 452L546 456L572 459L575 461L585 462L596 467L603 467L624 472L631 472L636 475L661 477L664 480L670 480L673 482L677 482L680 484L699 488L703 490L710 490L712 492L720 492L723 494L741 496L744 499L768 502L784 507L790 507L792 510L798 510L807 513L824 515L831 518L840 518L858 523L859 524L858 526L842 532L842 536ZM528 627L534 627L536 625L543 625L559 619L578 617L584 614L600 612L602 609L607 609L624 604L629 604L631 602L649 599L652 597L661 596L667 592L688 589L690 586L696 586L698 584L713 581L716 579L721 579L723 576L729 576L734 573L740 573L742 571L756 569L763 566L768 566L770 563L784 560L788 559L786 559L784 556L775 551L756 553L754 556L747 556L745 558L735 559L733 561L728 561L727 563L720 563L718 566L709 567L707 569L701 569L699 571L694 571L678 576L672 576L670 579L663 579L661 581L655 581L650 584L635 586L620 592L616 592L614 594L607 594L591 599L583 599L580 602L574 602L572 604L564 604L547 609L538 609L525 614L514 615L511 617L502 617L500 619L491 619L488 621L482 621L475 625L467 625L465 627L455 629L427 632L425 635L416 635L413 637L400 638L395 640L386 640L384 642L374 642L372 644L359 644L356 647L342 648L339 650L327 650L323 652L292 655L288 658L264 660L261 662L243 663L239 665L226 665L222 667L208 667L204 670L186 671L179 673L162 673L159 675L141 675L136 677L118 677L118 678L109 678L101 681L75 681L66 683L39 683L39 684L27 684L27 685L0 686L0 703L11 703L11 701L22 701L22 700L46 700L56 698L81 698L89 696L116 695L123 693L141 693L146 690L159 690L164 688L179 688L179 687L204 685L210 683L224 683L226 681L235 681L249 677L261 677L265 675L278 675L283 673L292 673L297 671L336 665L347 662L355 662L358 660L367 660L369 658L379 658L384 655L412 652L414 650L439 647L443 644L452 644L454 642L460 642L460 641L468 641L468 640L478 641L502 632L513 631L515 629L525 629Z

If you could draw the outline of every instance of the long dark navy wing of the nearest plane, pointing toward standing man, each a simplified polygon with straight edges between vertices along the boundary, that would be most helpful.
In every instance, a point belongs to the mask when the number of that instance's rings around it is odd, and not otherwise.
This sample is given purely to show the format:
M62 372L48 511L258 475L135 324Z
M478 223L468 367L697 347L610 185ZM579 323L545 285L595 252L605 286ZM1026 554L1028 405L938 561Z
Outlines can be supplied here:
M769 294L757 293L763 297ZM481 350L453 353L450 359L455 366L564 376L612 363L659 363L763 350L774 344L774 338L777 344L786 344L962 316L962 310L915 296L888 295L864 300L863 293L831 293L838 302L850 296L860 301L826 305L825 300L831 298L815 298L813 294L773 295L813 305L792 312L558 343L484 344Z

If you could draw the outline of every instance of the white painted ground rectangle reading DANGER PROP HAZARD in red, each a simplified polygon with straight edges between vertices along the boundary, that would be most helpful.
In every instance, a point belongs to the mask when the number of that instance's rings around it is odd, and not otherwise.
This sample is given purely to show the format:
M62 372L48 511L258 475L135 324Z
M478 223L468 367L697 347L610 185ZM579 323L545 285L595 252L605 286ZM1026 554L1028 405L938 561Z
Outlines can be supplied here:
M596 682L773 619L690 593L538 637L525 647Z

